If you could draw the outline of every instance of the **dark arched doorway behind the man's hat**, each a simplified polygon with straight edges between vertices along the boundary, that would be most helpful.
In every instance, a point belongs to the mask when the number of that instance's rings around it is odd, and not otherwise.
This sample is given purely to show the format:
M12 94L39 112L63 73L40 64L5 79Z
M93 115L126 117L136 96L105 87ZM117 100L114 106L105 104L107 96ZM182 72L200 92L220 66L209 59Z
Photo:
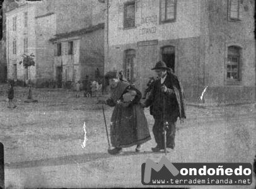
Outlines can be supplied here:
M167 67L170 67L173 72L175 72L175 47L166 46L161 49L161 56L163 62L165 62Z

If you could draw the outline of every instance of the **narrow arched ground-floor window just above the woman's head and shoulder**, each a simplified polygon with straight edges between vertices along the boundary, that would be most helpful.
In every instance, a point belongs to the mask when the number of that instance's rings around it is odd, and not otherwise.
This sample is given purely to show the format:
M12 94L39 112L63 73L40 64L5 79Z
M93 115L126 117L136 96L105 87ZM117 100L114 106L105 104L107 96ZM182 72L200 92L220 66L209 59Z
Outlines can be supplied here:
M135 50L129 49L125 50L125 77L129 82L133 82L133 72L134 72L134 58Z

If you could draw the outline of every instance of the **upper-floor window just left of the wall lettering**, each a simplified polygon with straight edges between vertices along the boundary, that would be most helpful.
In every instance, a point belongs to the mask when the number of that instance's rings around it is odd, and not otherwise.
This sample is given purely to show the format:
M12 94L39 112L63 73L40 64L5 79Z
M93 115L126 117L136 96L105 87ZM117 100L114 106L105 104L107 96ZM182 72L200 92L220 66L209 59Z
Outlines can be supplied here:
M124 28L135 26L135 2L124 4Z

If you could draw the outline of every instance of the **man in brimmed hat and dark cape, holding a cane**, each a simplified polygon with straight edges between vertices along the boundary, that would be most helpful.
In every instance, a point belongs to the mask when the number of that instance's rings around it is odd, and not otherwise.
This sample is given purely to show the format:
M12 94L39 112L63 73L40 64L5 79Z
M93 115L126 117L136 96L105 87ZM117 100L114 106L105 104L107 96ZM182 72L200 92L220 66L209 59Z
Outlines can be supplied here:
M175 132L177 118L183 122L185 116L185 101L182 87L178 78L165 62L159 61L152 69L156 71L159 79L154 82L151 94L143 103L143 107L153 105L152 115L154 117L153 134L156 147L152 151L158 152L164 149L164 129L166 130L167 152L175 147Z

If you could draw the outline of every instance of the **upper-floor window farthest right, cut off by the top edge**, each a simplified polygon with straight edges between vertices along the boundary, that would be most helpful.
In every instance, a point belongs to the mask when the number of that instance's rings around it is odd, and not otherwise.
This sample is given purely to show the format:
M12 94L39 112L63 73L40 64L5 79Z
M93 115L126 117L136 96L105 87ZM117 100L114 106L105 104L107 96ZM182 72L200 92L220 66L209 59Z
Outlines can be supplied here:
M228 13L230 20L240 20L243 5L242 0L229 0Z

